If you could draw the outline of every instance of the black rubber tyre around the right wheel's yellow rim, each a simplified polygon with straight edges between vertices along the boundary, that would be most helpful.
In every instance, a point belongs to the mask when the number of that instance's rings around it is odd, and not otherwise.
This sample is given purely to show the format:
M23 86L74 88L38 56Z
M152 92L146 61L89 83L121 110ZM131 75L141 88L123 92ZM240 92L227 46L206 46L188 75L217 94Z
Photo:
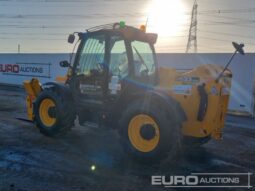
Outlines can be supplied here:
M172 159L176 156L181 144L181 123L176 120L174 114L167 113L149 101L135 102L127 107L119 121L120 140L124 150L132 158L143 163L151 163L162 159ZM133 117L145 114L155 120L159 127L159 141L157 146L148 152L142 152L132 145L129 139L129 123ZM140 131L141 132L141 131Z

